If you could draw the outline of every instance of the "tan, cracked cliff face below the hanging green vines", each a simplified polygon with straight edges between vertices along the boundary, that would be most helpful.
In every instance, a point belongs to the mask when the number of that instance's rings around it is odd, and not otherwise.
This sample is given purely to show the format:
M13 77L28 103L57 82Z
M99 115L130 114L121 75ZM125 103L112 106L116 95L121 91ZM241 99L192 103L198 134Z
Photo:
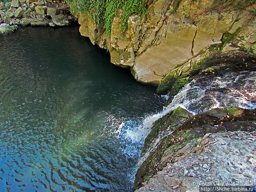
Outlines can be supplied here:
M214 0L149 0L145 17L130 16L125 35L115 17L107 36L86 12L77 13L81 35L109 50L111 63L131 68L139 82L159 85L179 66L193 69L206 47L221 44L223 51L255 54L256 5L243 9L213 6ZM241 2L240 2L241 3Z

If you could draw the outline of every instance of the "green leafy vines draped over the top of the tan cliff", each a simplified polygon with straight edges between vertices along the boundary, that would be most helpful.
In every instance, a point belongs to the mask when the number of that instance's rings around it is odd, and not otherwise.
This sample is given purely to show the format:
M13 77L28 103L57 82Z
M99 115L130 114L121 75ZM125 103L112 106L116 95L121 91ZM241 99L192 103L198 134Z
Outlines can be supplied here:
M91 20L97 23L108 36L114 16L121 19L120 31L125 32L129 16L144 16L147 12L147 0L66 0L75 12L87 11Z

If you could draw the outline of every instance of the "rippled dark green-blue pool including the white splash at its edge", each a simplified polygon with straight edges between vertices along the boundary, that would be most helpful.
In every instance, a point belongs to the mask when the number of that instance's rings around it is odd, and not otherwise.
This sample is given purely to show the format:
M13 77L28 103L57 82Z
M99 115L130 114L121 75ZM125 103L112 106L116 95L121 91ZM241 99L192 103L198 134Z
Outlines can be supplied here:
M132 191L166 101L156 88L78 27L22 28L0 46L0 190Z

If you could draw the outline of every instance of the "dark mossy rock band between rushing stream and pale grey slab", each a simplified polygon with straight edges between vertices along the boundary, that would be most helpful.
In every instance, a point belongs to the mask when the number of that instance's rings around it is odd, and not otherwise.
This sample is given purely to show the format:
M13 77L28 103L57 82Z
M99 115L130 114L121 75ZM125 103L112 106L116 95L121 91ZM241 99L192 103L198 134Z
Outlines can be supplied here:
M165 121L165 118L162 120ZM238 130L252 132L256 130L255 121L256 110L238 107L213 109L191 116L172 134L164 137L156 150L150 153L140 165L136 173L134 188L142 187L145 181L162 170L168 163L177 162L186 156L185 151L179 150L192 139L203 137L206 133ZM162 124L164 125L164 122Z

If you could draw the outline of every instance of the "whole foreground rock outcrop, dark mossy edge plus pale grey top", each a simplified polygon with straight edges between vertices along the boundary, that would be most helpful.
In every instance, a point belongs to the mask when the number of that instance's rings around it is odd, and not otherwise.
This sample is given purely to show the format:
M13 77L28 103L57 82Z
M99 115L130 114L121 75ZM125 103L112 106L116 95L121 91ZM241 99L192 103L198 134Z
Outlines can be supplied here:
M159 119L152 130L145 139L136 191L255 184L256 110L231 107L192 116L178 108ZM164 134L157 142L155 138Z

